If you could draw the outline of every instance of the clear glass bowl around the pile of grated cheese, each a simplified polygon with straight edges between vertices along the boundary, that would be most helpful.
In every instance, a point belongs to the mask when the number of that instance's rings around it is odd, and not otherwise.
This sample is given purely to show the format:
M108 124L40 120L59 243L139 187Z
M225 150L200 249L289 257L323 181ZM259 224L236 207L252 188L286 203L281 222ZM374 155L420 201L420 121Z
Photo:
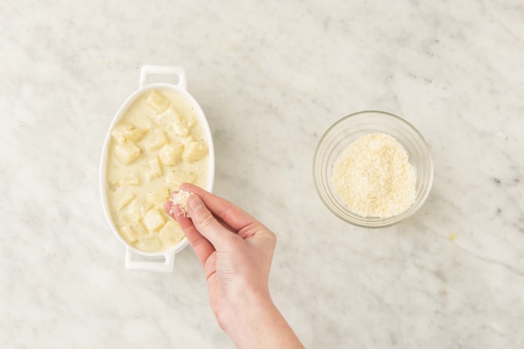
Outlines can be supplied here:
M333 163L342 151L361 135L387 133L406 149L409 163L416 171L416 197L407 211L389 218L362 217L342 202L335 192L331 176ZM340 219L363 228L384 228L412 216L428 198L433 182L433 163L428 144L409 122L388 112L367 110L356 112L335 122L322 136L313 159L313 179L316 192L330 211Z

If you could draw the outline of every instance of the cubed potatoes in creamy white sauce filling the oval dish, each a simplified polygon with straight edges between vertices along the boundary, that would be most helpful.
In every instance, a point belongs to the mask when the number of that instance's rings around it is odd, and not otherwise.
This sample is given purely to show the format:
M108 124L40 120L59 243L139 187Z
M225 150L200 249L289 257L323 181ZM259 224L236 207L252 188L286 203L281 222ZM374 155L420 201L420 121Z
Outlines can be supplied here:
M108 150L108 202L120 235L147 252L180 242L163 202L183 182L205 186L207 174L208 144L191 103L172 89L147 91L113 128Z

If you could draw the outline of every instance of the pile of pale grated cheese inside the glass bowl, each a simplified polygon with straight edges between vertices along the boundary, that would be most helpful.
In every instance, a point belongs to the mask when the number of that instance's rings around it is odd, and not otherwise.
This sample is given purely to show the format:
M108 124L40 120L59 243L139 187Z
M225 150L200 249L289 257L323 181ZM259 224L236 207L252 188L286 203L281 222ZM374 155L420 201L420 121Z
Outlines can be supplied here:
M414 166L391 135L363 135L333 164L333 186L347 207L363 217L389 218L415 200Z

